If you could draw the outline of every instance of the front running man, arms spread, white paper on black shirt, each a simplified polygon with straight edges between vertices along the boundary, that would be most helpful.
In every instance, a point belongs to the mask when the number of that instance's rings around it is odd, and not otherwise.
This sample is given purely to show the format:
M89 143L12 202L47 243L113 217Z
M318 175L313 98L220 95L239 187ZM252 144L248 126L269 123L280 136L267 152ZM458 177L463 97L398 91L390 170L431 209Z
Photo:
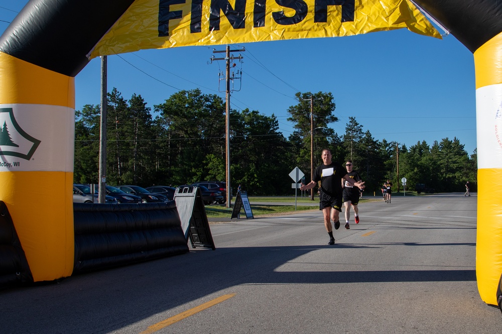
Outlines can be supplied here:
M314 170L312 181L307 185L302 184L300 189L312 189L318 182L320 183L319 210L322 210L324 227L326 227L326 231L329 234L328 245L333 245L335 238L333 237L331 220L333 220L335 230L337 230L340 227L339 215L342 211L341 179L360 189L364 188L364 182L356 182L347 175L347 171L340 164L332 162L332 155L329 149L324 149L321 157L323 163Z

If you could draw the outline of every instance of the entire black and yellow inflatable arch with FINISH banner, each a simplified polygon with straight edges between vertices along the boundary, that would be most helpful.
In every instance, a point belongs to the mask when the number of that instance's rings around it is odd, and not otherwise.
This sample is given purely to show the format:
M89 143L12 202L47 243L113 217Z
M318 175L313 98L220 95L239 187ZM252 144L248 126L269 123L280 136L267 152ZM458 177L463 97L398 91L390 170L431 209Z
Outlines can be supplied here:
M344 0L332 3L316 0L314 12L308 7L313 8L312 0L276 0L275 3L235 0L235 10L223 0L31 0L0 37L0 200L7 204L11 213L34 281L54 280L72 273L74 77L88 63L88 55L96 57L112 53L113 48L110 48L112 51L102 51L106 48L99 43L115 39L117 31L112 28L127 16L124 13L134 12L129 19L136 19L131 20L133 23L130 25L140 22L135 26L137 30L147 29L152 22L160 27L162 21L163 36L167 36L168 42L156 40L154 42L158 44L152 43L144 48L181 45L175 43L179 41L175 23L185 20L185 17L189 19L180 26L189 27L190 32L207 29L206 21L214 28L203 41L202 38L194 39L195 35L189 36L195 41L191 45L323 37L315 35L319 22L325 24L321 30L333 30L336 26L339 31L331 36L408 28L419 34L437 37L437 32L427 27L429 23L415 20L417 10L410 0ZM498 203L498 199L502 198L502 133L499 130L502 126L502 20L499 19L502 2L414 0L414 3L474 54L478 203L482 205L478 210L476 271L481 298L486 303L496 304L495 293L502 272L502 205ZM157 16L138 20L144 8L154 8L154 5L157 6ZM174 6L184 7L179 10ZM275 6L273 13L268 8L269 12L266 12L266 6ZM277 6L286 7L288 13L293 11L294 16L286 17L285 11L281 11L281 7L278 10ZM341 22L327 21L329 15L326 16L326 13L332 13L326 12L328 6L342 7L339 10L340 16L343 16ZM243 8L252 12L249 15L252 17L250 25L247 22L244 25L247 16L239 12ZM380 23L388 23L392 21L389 18L396 17L395 11L403 8L409 10L404 14L405 19L394 19L394 25L390 26L361 28L353 15L355 11L356 18L364 17L361 21L378 22L378 15L382 13L388 16ZM190 10L193 11L192 16ZM165 15L162 18L161 12ZM207 18L204 21L202 13L206 12L210 14L204 17ZM215 17L217 12L222 12L228 21L215 21L219 20ZM194 13L199 16L194 16ZM301 34L289 32L292 37L284 37L288 34L284 28L286 25L299 26L302 20L310 21L304 25ZM404 21L408 24L403 25ZM231 22L232 27L224 31L223 26L228 26L227 22ZM222 32L219 31L219 24ZM346 27L350 25L357 30L347 31ZM248 30L248 26L256 28L255 31L267 28L272 32L269 32L269 38L257 33L255 39L232 39L236 31L244 27ZM281 30L276 32L276 28ZM132 29L121 31L126 31L126 39L128 34L135 32ZM219 39L215 40L218 34ZM134 37L130 37L128 42L143 45L143 41L136 41ZM132 50L126 48L120 52L129 51ZM52 198L44 203L32 202L25 194L34 186L55 190Z

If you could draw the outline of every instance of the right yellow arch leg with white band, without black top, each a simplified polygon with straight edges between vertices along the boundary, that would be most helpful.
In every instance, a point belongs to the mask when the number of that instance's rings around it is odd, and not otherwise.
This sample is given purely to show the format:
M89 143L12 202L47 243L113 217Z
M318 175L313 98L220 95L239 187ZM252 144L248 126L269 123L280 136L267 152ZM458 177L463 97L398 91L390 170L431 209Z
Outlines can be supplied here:
M502 273L502 34L474 53L478 208L476 276L481 299L496 305Z

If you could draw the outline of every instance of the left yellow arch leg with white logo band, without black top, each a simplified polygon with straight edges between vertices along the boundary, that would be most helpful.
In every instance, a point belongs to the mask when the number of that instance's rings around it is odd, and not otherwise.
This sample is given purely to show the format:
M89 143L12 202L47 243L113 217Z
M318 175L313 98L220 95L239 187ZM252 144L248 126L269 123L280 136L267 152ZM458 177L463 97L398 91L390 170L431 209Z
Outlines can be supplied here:
M0 53L0 200L35 281L73 271L74 78Z

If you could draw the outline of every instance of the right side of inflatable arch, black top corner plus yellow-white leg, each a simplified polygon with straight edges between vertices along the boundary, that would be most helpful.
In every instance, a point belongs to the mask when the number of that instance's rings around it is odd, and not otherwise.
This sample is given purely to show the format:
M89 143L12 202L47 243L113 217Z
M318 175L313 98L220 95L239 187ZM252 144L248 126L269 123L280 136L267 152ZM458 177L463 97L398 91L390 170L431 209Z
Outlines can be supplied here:
M478 161L476 277L481 299L497 304L502 273L502 3L418 0L474 54Z

